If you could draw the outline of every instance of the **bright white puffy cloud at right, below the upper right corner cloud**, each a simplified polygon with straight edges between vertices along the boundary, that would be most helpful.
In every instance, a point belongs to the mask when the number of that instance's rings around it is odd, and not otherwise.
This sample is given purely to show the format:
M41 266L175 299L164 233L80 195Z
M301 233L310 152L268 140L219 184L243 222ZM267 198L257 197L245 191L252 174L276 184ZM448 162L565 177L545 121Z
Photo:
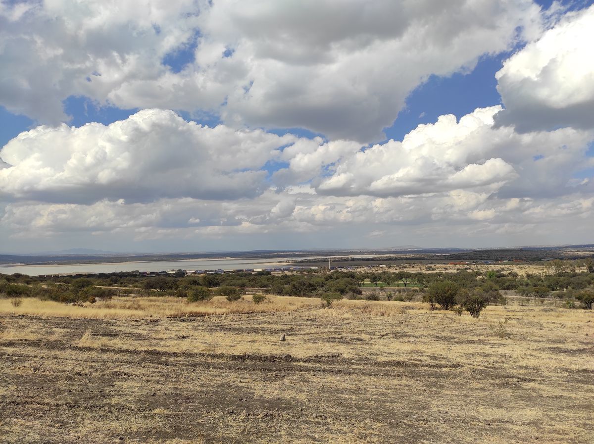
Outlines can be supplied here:
M459 122L453 115L419 125L402 142L388 141L343 156L316 190L335 196L422 195L454 190L506 197L573 192L572 175L587 160L592 132L566 128L516 134L493 128L501 107L476 109ZM540 157L535 160L535 156Z

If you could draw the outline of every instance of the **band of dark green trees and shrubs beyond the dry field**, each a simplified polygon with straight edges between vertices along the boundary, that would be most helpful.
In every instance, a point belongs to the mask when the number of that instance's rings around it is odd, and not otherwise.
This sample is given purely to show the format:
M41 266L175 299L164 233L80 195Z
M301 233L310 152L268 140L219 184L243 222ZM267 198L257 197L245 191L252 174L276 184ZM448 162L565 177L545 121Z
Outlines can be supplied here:
M323 297L330 306L334 300L362 297L362 287L399 286L384 292L385 299L394 291L410 291L416 287L432 308L467 310L478 316L486 304L501 302L499 290L515 290L520 295L536 298L559 297L568 306L591 309L594 303L594 261L586 259L587 272L576 271L574 262L551 261L545 274L520 276L513 271L491 269L485 273L471 270L457 272L302 272L296 274L255 273L187 275L178 270L173 275L146 277L138 272L77 275L75 277L29 277L21 274L0 275L0 294L8 297L37 296L59 302L94 302L109 299L119 292L163 294L186 297L190 301L210 300L215 294L237 300L246 290L283 296ZM114 288L115 287L115 288ZM404 288L402 288L404 287ZM416 289L415 288L415 289ZM408 293L407 293L408 294ZM384 296L382 296L383 298ZM366 299L380 299L378 293L365 294ZM327 301L326 301L327 299Z

